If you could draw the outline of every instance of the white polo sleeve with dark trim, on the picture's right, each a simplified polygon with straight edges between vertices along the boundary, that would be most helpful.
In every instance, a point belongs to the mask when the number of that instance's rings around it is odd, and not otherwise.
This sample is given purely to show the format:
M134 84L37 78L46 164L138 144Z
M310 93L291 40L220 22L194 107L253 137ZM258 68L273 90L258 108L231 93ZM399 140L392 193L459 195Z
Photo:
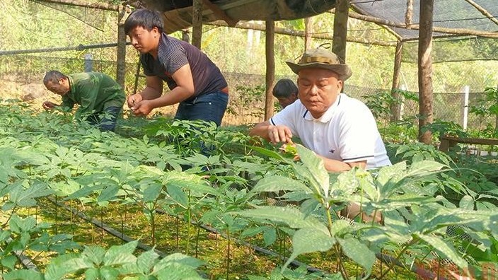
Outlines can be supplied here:
M340 126L339 147L344 163L366 161L375 156L378 130L368 107L344 112Z

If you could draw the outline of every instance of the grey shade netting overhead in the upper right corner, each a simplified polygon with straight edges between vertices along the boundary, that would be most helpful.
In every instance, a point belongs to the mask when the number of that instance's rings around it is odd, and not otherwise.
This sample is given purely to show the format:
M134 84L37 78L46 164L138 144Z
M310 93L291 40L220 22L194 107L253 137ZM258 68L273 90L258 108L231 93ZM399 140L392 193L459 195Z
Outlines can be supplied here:
M413 0L412 23L419 23L421 0ZM359 13L394 23L405 23L405 0L352 0ZM487 13L485 13L487 12ZM498 0L434 0L434 27L460 28L498 34ZM416 39L418 30L392 28L403 39ZM434 36L443 33L434 33Z

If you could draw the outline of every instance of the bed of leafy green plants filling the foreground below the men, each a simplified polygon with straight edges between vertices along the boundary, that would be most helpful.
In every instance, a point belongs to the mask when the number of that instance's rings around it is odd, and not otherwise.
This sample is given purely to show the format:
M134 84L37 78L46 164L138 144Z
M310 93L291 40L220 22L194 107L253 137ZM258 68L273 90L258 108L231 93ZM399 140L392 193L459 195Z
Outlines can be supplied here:
M195 269L213 278L320 277L282 269L293 259L331 272L330 279L412 279L412 264L432 269L422 264L434 259L451 259L463 271L497 262L496 197L468 187L492 189L492 183L470 177L475 173L432 146L401 145L392 166L334 174L302 146L296 146L300 161L293 161L272 146L253 146L241 132L206 124L159 118L134 127L131 119L120 125L132 133L120 135L24 106L0 106L6 279L170 279L198 277ZM202 154L201 144L212 145L212 153ZM448 191L456 194L451 200ZM267 195L294 206L267 205ZM136 241L122 244L45 197L170 255L136 250ZM382 220L341 219L351 203ZM449 234L450 226L463 229ZM285 264L236 240L271 249ZM35 257L44 274L21 269L16 250ZM393 261L381 265L382 255Z

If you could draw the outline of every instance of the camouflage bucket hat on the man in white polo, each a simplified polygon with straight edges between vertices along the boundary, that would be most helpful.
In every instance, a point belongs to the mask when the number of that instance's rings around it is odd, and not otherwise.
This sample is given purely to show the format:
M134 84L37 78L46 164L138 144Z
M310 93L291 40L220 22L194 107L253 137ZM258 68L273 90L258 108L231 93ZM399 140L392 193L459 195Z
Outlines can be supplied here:
M347 64L341 64L339 57L327 49L308 49L304 52L298 63L291 60L286 61L291 70L298 74L301 69L305 68L323 68L334 71L339 74L342 81L346 81L352 75L351 69Z

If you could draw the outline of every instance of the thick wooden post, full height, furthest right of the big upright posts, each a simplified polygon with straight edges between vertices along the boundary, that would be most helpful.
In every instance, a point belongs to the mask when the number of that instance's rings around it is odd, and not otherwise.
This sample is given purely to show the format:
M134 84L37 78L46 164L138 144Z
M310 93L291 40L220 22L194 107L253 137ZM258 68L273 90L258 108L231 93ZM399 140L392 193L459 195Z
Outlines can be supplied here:
M420 1L420 29L419 29L419 141L430 144L432 133L422 132L422 127L432 123L432 18L434 14L434 0Z

